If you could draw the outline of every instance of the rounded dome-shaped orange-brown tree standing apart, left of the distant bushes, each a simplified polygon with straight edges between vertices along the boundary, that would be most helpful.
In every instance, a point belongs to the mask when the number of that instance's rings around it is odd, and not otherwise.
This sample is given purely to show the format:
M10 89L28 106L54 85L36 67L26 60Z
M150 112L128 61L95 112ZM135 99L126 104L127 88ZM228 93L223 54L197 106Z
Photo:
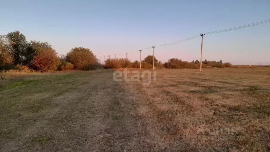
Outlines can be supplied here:
M88 48L75 47L66 55L66 61L74 65L74 68L86 70L88 66L98 64L95 55Z

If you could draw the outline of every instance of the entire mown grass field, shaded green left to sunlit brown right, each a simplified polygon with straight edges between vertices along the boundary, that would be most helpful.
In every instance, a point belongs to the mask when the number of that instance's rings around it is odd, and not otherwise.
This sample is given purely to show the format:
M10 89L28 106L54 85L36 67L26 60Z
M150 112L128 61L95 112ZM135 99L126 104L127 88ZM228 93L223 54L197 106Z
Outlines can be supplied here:
M203 70L0 73L0 151L270 151L270 68Z

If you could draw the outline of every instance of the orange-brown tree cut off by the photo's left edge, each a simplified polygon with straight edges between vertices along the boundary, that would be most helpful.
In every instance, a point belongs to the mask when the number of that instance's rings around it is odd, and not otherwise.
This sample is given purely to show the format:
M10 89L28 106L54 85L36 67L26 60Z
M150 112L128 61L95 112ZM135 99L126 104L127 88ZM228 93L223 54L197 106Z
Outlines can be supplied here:
M4 35L0 35L0 66L10 64L12 59L11 45Z

